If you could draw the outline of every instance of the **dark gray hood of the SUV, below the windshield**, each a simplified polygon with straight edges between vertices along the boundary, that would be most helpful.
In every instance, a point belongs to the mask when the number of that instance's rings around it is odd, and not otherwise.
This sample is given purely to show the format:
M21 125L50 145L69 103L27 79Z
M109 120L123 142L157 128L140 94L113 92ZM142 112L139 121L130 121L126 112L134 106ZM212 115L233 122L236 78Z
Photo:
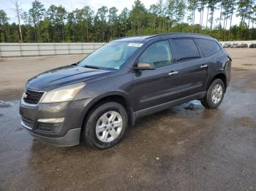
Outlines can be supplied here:
M63 66L38 74L29 79L26 87L32 90L48 91L64 85L101 77L111 71L89 69L79 66Z

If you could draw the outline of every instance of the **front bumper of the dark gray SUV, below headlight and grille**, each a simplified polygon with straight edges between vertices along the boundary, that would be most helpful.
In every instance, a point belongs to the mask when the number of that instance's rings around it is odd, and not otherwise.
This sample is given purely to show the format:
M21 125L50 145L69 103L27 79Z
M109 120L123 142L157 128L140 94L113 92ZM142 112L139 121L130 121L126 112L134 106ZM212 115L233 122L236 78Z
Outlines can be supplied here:
M92 99L31 106L20 103L21 125L32 136L55 146L72 146L80 142L87 106Z

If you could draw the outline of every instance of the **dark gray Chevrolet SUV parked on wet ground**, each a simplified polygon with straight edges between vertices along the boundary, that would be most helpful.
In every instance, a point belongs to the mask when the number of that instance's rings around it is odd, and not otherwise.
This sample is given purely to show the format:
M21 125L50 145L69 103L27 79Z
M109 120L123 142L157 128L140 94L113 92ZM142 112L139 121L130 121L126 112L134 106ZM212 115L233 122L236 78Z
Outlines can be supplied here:
M138 117L195 99L217 108L230 66L230 55L211 36L116 39L78 63L29 79L20 101L21 124L48 144L84 140L112 147Z

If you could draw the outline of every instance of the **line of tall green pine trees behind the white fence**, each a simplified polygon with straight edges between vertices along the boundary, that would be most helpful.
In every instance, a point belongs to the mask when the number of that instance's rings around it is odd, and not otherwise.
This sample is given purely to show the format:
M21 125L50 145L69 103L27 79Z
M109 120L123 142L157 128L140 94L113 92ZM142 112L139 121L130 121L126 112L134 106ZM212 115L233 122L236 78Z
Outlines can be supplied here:
M120 14L116 7L105 6L96 13L89 6L72 12L61 5L45 9L38 0L27 12L18 0L12 8L18 24L9 23L0 10L0 42L109 42L121 36L170 32L208 34L222 41L256 39L255 0L159 0L149 9L135 0L131 10L124 8ZM238 25L233 25L235 15Z

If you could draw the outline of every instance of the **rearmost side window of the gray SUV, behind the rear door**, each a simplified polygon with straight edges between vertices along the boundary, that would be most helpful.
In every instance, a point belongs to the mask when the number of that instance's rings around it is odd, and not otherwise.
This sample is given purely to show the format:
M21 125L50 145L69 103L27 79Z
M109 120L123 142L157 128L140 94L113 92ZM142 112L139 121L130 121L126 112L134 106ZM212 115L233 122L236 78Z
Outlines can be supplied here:
M208 57L210 55L214 55L216 52L220 50L219 45L217 42L207 40L207 39L197 39L197 42L203 51L203 55Z

